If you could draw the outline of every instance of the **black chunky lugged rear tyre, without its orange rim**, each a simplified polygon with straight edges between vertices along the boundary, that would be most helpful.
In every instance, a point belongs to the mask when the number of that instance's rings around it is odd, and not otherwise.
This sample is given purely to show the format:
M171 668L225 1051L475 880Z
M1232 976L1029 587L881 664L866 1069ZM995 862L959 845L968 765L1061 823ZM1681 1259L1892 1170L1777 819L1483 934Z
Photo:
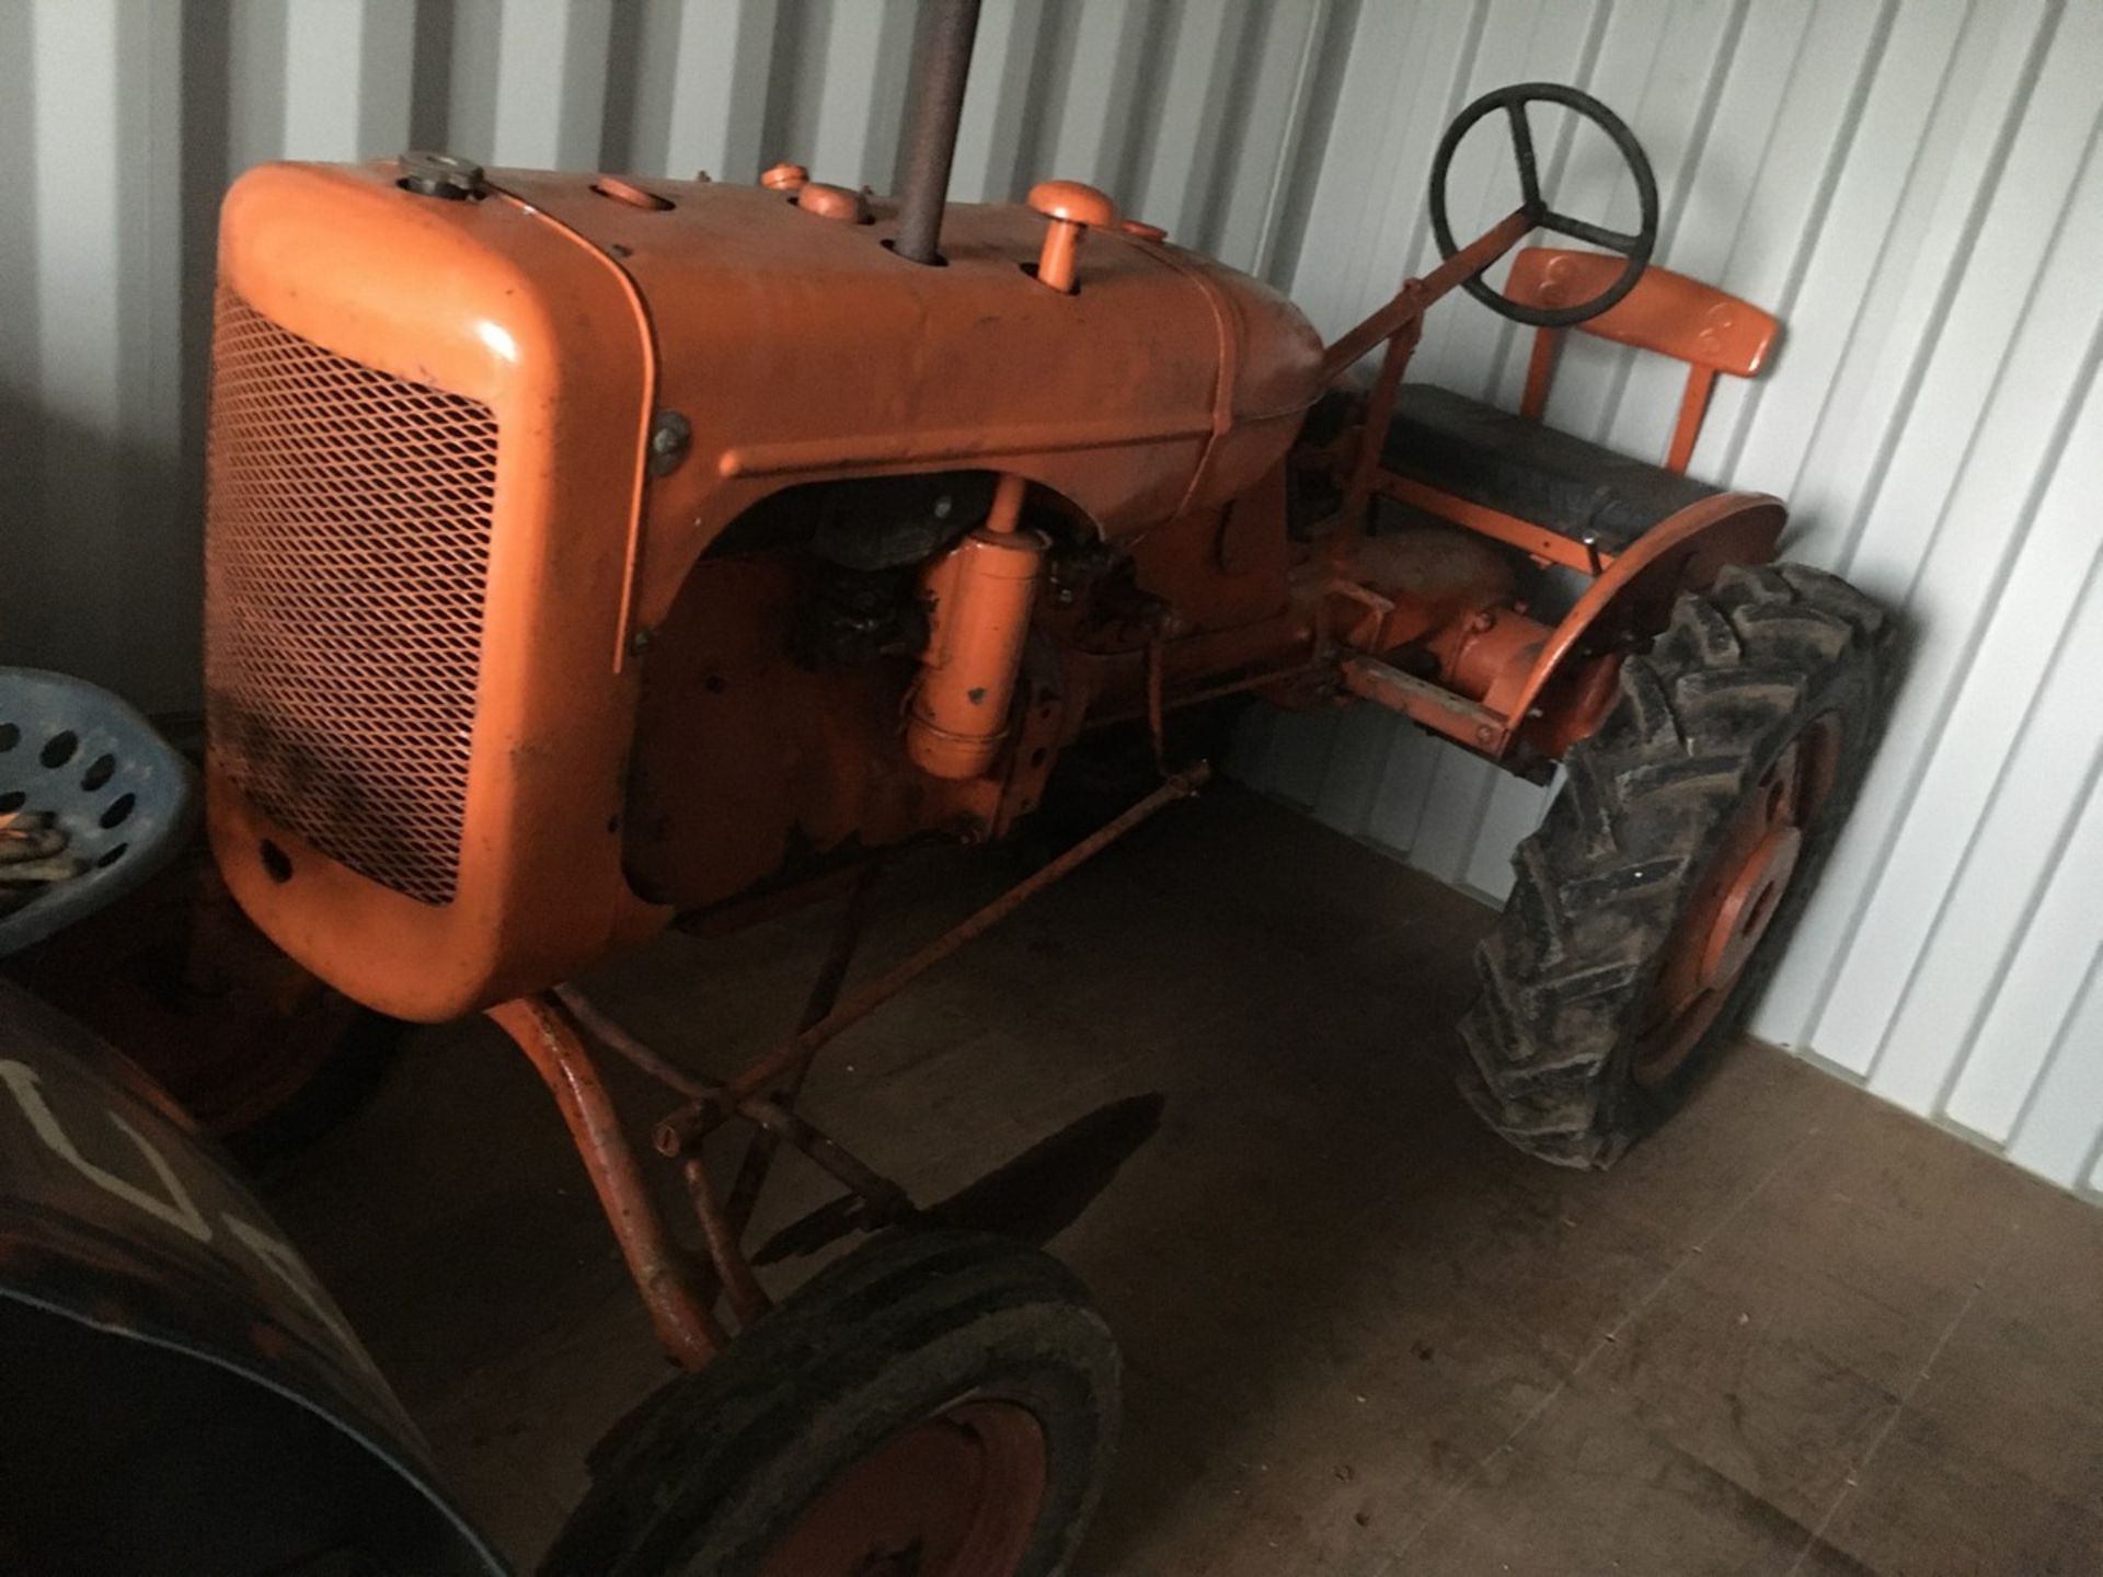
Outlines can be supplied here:
M1823 854L1867 757L1888 635L1884 612L1838 576L1731 566L1624 662L1613 711L1571 746L1565 791L1518 847L1506 915L1478 950L1459 1085L1489 1127L1544 1161L1605 1167L1685 1098L1733 1011L1661 1091L1636 1091L1626 1064L1706 843L1779 742L1840 704L1853 715L1815 831ZM1790 894L1798 908L1804 887ZM1773 931L1779 942L1785 925ZM1762 946L1767 967L1773 955ZM1731 1009L1743 1011L1754 974Z

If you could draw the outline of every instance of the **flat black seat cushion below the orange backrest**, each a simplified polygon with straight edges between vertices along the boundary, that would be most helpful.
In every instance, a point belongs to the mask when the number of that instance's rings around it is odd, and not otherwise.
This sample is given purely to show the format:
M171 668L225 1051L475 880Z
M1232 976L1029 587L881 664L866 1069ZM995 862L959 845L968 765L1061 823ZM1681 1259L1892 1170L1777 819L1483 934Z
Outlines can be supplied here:
M1720 492L1428 383L1401 387L1380 463L1607 555Z

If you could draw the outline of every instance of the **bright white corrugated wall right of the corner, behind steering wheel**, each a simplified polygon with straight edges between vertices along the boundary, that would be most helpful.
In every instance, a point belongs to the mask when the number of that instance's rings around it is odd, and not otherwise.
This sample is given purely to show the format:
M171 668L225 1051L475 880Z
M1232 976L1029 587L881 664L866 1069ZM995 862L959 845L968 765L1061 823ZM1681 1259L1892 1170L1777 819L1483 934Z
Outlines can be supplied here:
M1338 109L1354 132L1329 145L1293 280L1325 330L1428 267L1438 126L1520 76L1619 107L1657 164L1659 261L1788 324L1767 378L1718 389L1693 471L1790 498L1788 553L1910 635L1891 734L1754 1026L2103 1186L2103 6L1369 6ZM1670 364L1581 349L1550 421L1657 452ZM1514 404L1523 357L1462 305L1417 370ZM1363 711L1272 717L1249 746L1258 780L1493 898L1546 803Z

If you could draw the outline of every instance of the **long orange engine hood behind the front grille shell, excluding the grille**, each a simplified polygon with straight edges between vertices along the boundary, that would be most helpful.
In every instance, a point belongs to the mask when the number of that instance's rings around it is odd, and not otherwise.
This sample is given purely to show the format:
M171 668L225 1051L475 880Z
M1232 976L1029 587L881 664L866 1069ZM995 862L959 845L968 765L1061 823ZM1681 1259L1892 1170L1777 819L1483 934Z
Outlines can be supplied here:
M890 250L883 200L831 219L768 187L488 179L616 259L648 313L654 404L690 452L650 488L646 618L780 486L1014 469L1129 536L1247 488L1321 391L1321 341L1285 296L1140 233L1089 231L1060 294L1035 278L1047 221L1024 206L953 204L925 267Z

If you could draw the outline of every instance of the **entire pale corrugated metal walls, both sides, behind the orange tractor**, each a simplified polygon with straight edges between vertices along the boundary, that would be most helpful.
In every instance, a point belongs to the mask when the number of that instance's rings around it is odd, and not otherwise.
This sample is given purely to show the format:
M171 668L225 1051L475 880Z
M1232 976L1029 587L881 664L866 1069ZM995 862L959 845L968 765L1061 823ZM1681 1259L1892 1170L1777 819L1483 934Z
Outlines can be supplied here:
M278 156L890 185L911 0L0 0L0 650L196 692L212 204ZM1792 551L1916 635L1891 742L1760 1028L2103 1186L2103 294L2097 0L988 0L957 193L1094 179L1325 330L1430 261L1474 93L1634 124L1659 259L1775 307L1773 376L1695 471L1788 494ZM1552 143L1567 206L1609 162ZM1489 160L1455 221L1499 208ZM1420 376L1510 402L1472 303ZM1550 418L1661 448L1676 381L1565 357ZM1485 894L1541 795L1363 713L1258 728L1277 793Z

